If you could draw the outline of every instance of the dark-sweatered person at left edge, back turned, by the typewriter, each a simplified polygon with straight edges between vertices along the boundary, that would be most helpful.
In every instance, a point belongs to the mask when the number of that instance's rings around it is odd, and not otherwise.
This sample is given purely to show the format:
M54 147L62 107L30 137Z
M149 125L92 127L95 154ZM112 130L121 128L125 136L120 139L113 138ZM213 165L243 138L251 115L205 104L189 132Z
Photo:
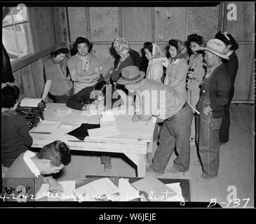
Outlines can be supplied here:
M20 89L6 85L1 90L1 166L2 176L21 153L32 146L33 139L24 116L15 112L19 102Z

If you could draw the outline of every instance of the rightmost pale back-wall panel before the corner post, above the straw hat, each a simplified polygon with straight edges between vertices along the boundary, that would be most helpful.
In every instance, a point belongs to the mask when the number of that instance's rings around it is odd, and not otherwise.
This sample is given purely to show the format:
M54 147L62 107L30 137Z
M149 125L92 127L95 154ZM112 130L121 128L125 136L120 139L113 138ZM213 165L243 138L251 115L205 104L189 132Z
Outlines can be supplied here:
M205 40L214 38L217 33L219 6L187 7L187 34L198 34Z

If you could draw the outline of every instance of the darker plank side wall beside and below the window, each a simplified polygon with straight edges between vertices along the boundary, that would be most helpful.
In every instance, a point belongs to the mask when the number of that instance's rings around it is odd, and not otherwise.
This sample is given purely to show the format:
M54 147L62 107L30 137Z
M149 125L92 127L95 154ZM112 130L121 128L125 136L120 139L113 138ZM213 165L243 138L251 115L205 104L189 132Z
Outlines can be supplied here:
M38 53L55 43L67 41L63 7L29 7L34 52ZM13 72L15 85L20 87L20 99L41 97L45 76L43 66L49 55ZM50 100L48 100L51 102Z

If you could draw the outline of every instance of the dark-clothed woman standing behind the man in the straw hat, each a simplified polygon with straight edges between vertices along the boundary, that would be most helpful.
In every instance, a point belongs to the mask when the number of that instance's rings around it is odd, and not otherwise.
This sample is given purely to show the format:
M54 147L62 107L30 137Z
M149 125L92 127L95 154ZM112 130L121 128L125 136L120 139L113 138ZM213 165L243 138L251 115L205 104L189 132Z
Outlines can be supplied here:
M227 69L229 77L231 78L229 102L226 104L224 109L225 114L224 114L224 117L222 118L222 125L220 126L220 134L219 134L220 144L225 144L229 141L229 126L230 126L229 106L234 97L234 83L236 80L236 73L238 70L238 58L235 52L238 49L238 43L236 43L236 40L234 39L234 37L231 36L231 34L228 34L227 31L225 31L223 34L221 32L217 33L215 35L215 38L224 42L224 44L226 45L225 53L227 57L229 57L229 60L222 59L222 62L225 68Z

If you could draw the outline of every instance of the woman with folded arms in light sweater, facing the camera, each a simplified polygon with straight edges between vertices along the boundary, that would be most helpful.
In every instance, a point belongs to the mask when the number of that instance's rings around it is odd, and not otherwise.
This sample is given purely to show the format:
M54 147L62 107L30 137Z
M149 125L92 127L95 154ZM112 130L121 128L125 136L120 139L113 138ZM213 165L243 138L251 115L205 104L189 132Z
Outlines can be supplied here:
M70 57L67 62L69 73L74 82L74 94L85 87L90 90L100 78L100 63L97 57L90 51L93 44L87 38L79 36L73 45L73 51L76 55Z

